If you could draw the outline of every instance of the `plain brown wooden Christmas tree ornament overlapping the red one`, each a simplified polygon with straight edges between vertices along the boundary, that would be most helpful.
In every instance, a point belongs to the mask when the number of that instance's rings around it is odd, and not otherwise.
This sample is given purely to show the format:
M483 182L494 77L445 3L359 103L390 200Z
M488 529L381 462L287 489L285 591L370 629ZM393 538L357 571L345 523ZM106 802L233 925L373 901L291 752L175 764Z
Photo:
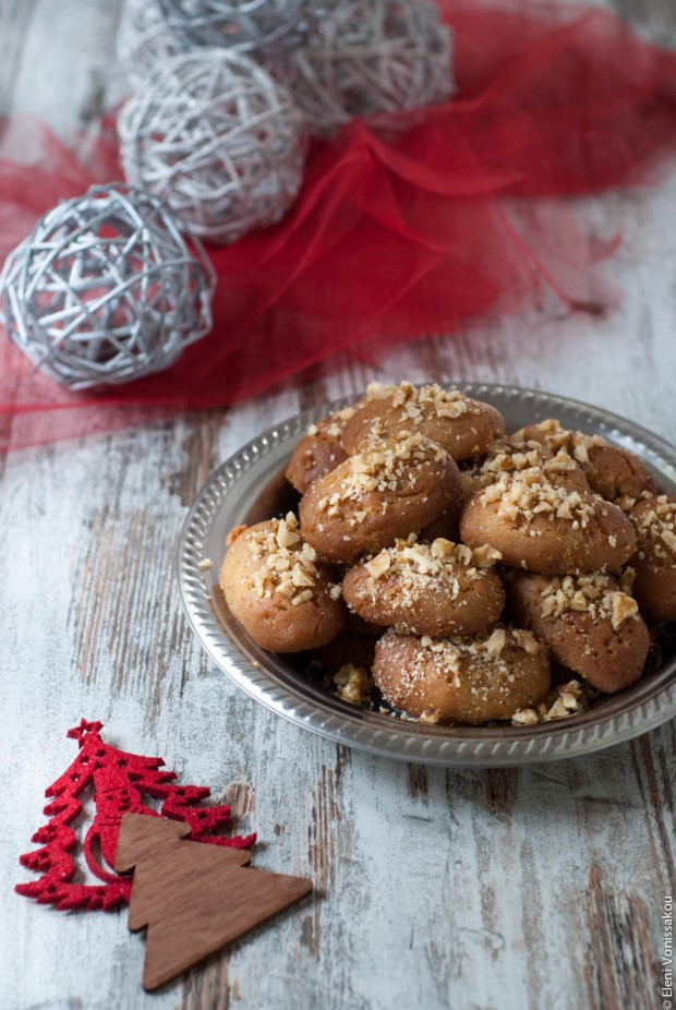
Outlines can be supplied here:
M129 928L147 926L143 987L174 975L300 901L312 883L245 869L251 853L185 841L190 826L125 814L116 869L134 869Z

